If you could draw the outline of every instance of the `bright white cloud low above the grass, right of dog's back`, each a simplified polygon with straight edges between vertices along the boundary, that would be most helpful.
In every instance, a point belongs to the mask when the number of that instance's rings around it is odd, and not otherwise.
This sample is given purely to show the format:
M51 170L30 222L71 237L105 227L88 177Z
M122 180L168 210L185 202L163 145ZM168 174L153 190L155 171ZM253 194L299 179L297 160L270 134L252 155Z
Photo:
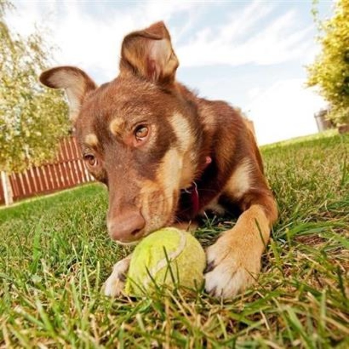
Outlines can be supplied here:
M314 114L326 103L304 84L302 79L278 81L264 93L259 91L246 108L259 145L318 132Z

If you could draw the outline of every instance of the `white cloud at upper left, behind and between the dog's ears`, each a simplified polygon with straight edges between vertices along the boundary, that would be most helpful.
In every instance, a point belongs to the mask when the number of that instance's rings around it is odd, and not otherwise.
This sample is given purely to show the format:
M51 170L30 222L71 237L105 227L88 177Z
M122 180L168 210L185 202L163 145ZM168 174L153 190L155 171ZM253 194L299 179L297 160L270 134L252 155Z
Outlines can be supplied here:
M158 20L169 21L174 14L197 4L133 2L125 9L116 3L104 17L82 11L81 2L77 0L28 1L18 2L16 6L17 10L7 16L12 28L22 34L32 32L35 23L47 28L53 44L59 47L55 54L57 65L77 65L87 72L98 71L102 75L98 82L104 82L117 75L121 41L127 33Z

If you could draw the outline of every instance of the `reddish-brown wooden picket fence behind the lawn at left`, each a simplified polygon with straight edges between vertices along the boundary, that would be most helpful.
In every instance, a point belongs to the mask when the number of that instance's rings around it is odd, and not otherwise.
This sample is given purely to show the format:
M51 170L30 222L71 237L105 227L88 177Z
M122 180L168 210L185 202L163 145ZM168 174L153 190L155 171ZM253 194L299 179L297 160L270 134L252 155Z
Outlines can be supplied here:
M60 142L54 162L8 175L7 187L9 186L10 195L15 201L93 180L85 168L75 138L71 137ZM3 204L5 203L3 176L0 184L0 204Z

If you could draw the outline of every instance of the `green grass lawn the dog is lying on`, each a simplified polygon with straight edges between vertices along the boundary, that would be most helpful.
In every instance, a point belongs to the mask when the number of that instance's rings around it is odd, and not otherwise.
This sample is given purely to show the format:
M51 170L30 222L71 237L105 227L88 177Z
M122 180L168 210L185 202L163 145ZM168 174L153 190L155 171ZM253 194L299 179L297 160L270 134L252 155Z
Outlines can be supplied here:
M228 301L203 292L104 297L130 250L106 233L97 184L0 210L1 348L348 348L349 135L263 147L280 218L258 283ZM211 243L232 221L197 231Z

